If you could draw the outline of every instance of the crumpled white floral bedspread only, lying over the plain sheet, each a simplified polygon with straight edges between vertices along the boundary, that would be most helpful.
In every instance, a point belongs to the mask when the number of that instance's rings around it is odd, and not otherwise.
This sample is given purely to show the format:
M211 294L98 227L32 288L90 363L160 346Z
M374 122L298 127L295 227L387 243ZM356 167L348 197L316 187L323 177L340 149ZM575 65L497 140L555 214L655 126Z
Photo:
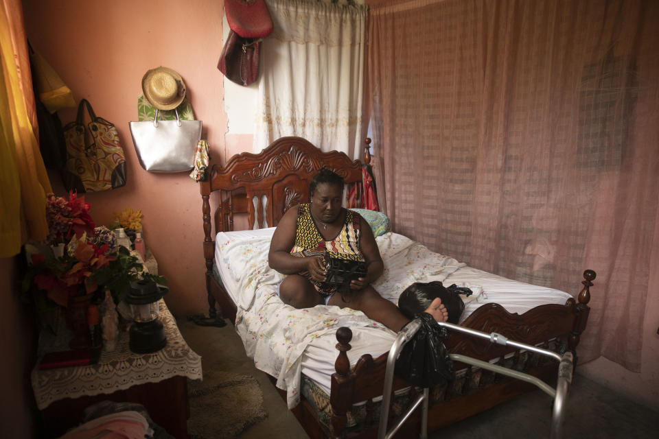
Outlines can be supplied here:
M443 281L465 265L395 233L377 237L376 242L384 274L373 287L394 303L408 285ZM255 366L277 377L277 387L287 391L288 407L292 408L299 403L301 357L312 340L342 326L389 329L348 308L284 305L277 296L284 275L268 267L269 247L270 236L229 237L220 244L220 254L240 289L235 331Z

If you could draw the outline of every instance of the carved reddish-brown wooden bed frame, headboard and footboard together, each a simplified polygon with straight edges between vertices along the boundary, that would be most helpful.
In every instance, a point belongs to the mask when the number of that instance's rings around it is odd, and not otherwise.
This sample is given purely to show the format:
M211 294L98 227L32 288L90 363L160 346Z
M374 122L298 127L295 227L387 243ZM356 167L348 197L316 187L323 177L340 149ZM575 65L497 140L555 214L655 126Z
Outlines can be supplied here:
M367 139L366 163L370 161L369 143L370 140ZM200 187L210 318L218 317L216 302L220 306L221 316L232 322L235 322L237 312L233 300L213 276L213 238L216 233L233 231L236 215L241 214L246 215L248 230L255 228L255 224L257 228L276 226L290 206L308 201L308 182L323 166L343 176L347 184L360 185L362 181L360 162L351 161L339 152L323 153L298 137L278 139L260 154L239 154L233 156L224 167L213 165L210 168L208 178L201 182ZM211 201L218 204L212 221ZM542 305L518 315L509 313L500 305L490 303L476 309L462 325L487 333L498 332L518 342L556 351L568 349L575 354L576 364L576 348L579 337L586 328L590 311L590 287L595 273L586 270L583 277L583 288L577 295L577 300L570 298L565 305ZM386 353L375 359L371 355L362 355L351 368L346 355L346 351L351 348L350 329L340 328L336 332L336 338L338 355L335 362L336 372L332 375L332 391L329 394L330 425L320 422L313 401L303 398L292 412L311 438L375 437L379 410L373 399L382 394ZM545 381L552 381L556 377L557 364L544 361L535 354L455 333L448 337L445 344L450 353L484 361L498 359L498 364L522 370ZM439 429L533 390L533 386L527 383L494 375L472 366L456 364L455 368L462 370L459 377L431 392L428 431ZM395 380L394 390L409 387L408 383L400 379ZM286 398L285 392L279 391ZM408 392L415 392L415 389L411 388ZM365 407L365 420L359 431L349 431L346 428L347 414L354 404L362 401L367 401L362 405ZM390 413L395 411L390 410ZM408 437L409 434L418 434L419 431L419 418L413 416L397 437Z

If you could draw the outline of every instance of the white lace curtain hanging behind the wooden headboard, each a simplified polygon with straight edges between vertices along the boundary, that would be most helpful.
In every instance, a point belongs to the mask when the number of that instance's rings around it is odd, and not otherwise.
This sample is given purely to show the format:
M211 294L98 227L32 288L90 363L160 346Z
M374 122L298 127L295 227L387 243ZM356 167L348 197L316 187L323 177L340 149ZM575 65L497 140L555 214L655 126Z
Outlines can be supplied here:
M367 8L267 0L273 34L260 53L259 152L283 136L359 158Z

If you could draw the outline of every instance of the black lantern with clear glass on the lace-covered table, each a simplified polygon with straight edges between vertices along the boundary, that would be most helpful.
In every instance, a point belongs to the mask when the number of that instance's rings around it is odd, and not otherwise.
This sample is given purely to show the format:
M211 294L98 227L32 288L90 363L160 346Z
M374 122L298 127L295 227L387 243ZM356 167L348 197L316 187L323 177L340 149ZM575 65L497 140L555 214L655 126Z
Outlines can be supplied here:
M140 354L160 351L167 344L163 324L158 320L158 301L169 291L155 282L130 283L126 302L130 305L130 351Z

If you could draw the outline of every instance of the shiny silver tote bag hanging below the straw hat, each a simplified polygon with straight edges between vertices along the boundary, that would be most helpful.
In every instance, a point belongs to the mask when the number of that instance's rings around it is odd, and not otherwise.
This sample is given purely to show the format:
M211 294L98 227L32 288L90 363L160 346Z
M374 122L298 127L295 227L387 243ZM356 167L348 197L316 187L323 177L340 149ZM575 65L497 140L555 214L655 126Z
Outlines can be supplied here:
M201 121L128 122L139 164L149 172L183 172L194 167L194 153L201 139Z

